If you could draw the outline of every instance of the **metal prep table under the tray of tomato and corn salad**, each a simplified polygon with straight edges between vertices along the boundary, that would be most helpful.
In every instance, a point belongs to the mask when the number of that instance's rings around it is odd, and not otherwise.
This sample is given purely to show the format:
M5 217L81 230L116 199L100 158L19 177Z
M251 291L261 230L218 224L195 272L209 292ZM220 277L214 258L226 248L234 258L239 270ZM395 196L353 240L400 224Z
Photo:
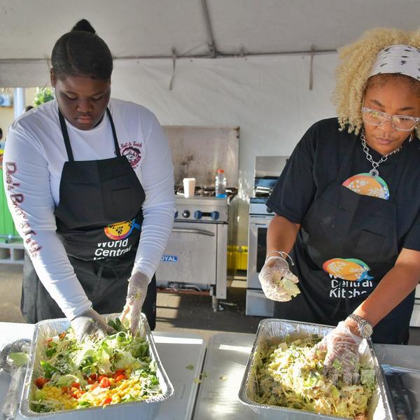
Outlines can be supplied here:
M34 325L0 322L0 349L18 338L32 339ZM162 402L155 420L191 420L197 396L197 379L202 371L206 343L200 335L153 332L162 364L174 385L174 395ZM194 369L186 369L193 365ZM0 407L10 384L10 375L0 372ZM51 416L48 416L51 418ZM62 416L60 416L62 418ZM16 419L24 419L19 414ZM86 418L88 420L88 417ZM124 419L128 419L124 416Z

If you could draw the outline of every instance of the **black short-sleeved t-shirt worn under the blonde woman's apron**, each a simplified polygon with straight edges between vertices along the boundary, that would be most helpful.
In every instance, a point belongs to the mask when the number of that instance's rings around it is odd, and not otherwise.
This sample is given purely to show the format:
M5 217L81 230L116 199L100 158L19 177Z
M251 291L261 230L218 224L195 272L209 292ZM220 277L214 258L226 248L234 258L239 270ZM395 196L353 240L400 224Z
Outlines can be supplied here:
M349 151L349 143L354 139L355 134L339 131L337 118L312 125L290 156L267 206L279 216L301 223L311 204L331 183L339 181L355 186L353 177L369 173L372 164L363 151L360 135L356 146ZM378 190L378 194L397 204L398 250L409 248L420 251L420 141L417 138L412 142L406 140L402 148L409 150L405 154L405 166L395 196L392 194L394 175L401 153L390 155L379 165L379 177L384 188ZM349 152L351 160L343 179L337 179L343 158ZM370 154L376 162L382 157L372 148ZM379 197L377 200L384 200Z

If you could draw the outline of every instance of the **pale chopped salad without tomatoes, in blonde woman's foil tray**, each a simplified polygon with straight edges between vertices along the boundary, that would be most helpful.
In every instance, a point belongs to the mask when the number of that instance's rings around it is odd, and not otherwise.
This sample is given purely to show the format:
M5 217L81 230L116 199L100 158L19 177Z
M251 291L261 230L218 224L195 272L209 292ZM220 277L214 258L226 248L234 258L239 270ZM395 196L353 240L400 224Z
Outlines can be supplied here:
M257 393L255 402L302 409L309 412L367 419L370 398L374 392L375 373L368 365L358 364L360 384L335 385L323 374L325 352L313 357L311 349L321 340L286 339L260 349L255 359ZM335 360L339 368L339 360Z

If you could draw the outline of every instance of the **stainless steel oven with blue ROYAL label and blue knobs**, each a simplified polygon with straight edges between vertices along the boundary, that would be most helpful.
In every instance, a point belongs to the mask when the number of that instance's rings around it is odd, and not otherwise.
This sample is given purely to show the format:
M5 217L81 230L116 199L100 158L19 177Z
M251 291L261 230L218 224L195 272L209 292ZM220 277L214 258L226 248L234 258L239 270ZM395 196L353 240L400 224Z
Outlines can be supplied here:
M174 228L156 270L158 287L226 298L228 200L176 197Z

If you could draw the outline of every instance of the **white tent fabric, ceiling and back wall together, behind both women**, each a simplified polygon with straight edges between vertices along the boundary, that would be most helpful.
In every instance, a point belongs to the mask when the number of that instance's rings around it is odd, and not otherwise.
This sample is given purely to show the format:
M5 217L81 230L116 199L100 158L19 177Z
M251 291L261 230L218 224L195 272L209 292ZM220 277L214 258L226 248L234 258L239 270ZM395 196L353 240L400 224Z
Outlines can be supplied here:
M309 125L334 115L337 55L319 53L374 27L416 29L419 11L419 0L1 0L0 87L48 83L53 43L90 20L117 58L113 96L144 104L165 125L241 128L238 244L246 244L255 155L290 154ZM312 48L309 90L309 55L288 53ZM169 90L173 52L181 58Z

